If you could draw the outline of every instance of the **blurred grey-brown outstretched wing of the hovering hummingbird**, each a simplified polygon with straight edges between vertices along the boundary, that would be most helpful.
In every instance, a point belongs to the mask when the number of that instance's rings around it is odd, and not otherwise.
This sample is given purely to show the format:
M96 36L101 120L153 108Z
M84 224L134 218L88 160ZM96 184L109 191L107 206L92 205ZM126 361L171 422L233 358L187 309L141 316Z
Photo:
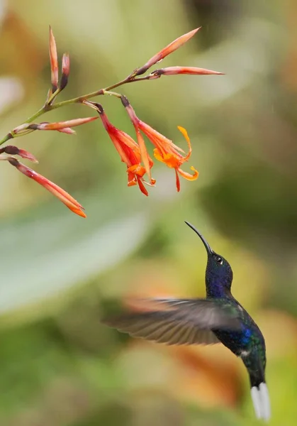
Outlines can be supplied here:
M149 312L127 312L103 323L133 337L167 344L215 344L212 329L239 329L240 321L228 305L207 299L145 299Z

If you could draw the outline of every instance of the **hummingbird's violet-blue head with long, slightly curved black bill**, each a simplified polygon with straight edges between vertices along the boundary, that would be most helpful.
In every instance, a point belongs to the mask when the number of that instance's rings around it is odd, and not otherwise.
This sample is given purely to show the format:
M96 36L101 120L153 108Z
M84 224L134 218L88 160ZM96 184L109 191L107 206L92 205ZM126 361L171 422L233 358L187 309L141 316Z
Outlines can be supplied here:
M193 225L189 224L189 222L186 222L186 224L196 232L206 248L206 290L208 295L215 296L215 294L218 295L221 293L222 290L230 290L233 273L228 261L211 249L211 246L208 244L206 239L197 231L196 228L194 228Z

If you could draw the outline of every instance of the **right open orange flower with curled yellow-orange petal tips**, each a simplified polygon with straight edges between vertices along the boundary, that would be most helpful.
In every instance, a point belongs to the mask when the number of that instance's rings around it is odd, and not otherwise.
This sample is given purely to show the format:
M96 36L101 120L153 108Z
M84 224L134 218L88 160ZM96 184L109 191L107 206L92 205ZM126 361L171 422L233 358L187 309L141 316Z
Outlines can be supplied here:
M159 161L162 161L162 163L165 163L169 168L174 168L176 175L177 191L179 192L181 189L179 175L181 175L181 177L185 178L186 180L196 180L198 178L198 171L193 166L191 166L191 170L194 171L193 175L184 172L184 170L181 170L181 165L184 164L185 161L189 160L192 152L191 142L186 129L181 126L178 126L178 129L179 131L181 131L184 138L186 139L189 148L188 153L183 156L181 155L181 153L184 153L184 151L179 148L179 146L174 145L174 143L170 139L166 138L166 136L162 135L157 130L152 129L152 127L146 124L144 121L138 119L138 116L136 116L133 107L131 107L126 97L122 97L121 100L123 106L128 111L128 114L133 123L133 126L135 126L135 129L138 129L138 131L141 130L142 133L145 133L145 136L147 136L147 138L155 146L155 158Z

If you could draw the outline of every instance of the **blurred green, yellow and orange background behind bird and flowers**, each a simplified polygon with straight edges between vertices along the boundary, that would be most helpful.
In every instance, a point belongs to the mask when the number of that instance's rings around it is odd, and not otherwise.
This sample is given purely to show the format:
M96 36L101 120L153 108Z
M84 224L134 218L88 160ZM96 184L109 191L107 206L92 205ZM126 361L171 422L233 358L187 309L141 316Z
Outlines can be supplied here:
M0 425L256 425L247 374L220 345L169 348L100 324L110 300L205 294L206 252L230 261L233 294L267 341L271 425L297 417L297 5L243 0L1 0L0 129L39 109L48 25L71 57L61 99L106 87L192 28L165 65L225 76L130 84L138 116L191 136L196 182L156 164L145 198L126 186L101 123L16 140L35 170L77 197L76 217L8 163L0 168ZM117 99L100 99L133 134ZM47 114L87 116L82 106Z

